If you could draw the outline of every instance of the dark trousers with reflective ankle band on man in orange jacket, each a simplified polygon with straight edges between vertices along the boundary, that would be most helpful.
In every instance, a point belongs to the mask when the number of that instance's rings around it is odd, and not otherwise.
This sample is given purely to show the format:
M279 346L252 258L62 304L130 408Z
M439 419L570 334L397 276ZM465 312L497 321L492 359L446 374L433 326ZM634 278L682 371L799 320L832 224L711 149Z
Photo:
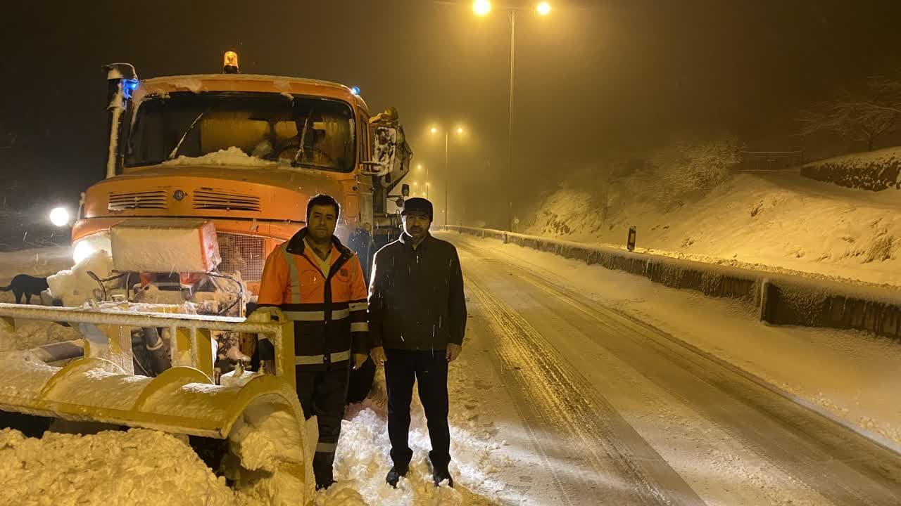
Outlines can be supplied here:
M327 371L309 371L297 367L297 398L309 420L316 416L319 441L313 456L313 473L316 483L332 483L332 464L335 448L341 436L341 419L344 418L350 365L338 366Z

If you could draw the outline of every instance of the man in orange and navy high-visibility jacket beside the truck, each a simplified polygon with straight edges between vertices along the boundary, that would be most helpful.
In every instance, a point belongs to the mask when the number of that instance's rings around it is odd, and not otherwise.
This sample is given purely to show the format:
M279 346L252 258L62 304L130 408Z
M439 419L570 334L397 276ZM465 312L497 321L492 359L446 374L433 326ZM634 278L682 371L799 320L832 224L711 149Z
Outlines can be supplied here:
M334 483L350 361L361 366L369 351L366 280L357 255L334 237L340 212L329 195L310 199L306 227L266 259L257 301L294 321L297 397L304 416L316 415L319 424L317 489ZM260 348L261 359L271 358L271 347Z

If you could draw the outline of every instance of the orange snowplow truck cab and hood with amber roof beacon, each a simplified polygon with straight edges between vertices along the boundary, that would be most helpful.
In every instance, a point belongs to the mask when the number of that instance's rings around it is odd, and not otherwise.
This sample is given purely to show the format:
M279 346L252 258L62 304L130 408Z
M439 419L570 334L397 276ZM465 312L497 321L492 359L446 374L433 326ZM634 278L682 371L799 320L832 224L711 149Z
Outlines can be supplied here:
M112 252L111 227L123 222L210 221L218 270L257 293L266 257L305 225L318 193L341 203L337 234L364 266L396 237L387 204L409 193L390 194L413 156L396 110L370 115L357 88L241 74L237 63L230 52L223 74L147 80L129 64L106 67L106 174L82 195L76 262Z

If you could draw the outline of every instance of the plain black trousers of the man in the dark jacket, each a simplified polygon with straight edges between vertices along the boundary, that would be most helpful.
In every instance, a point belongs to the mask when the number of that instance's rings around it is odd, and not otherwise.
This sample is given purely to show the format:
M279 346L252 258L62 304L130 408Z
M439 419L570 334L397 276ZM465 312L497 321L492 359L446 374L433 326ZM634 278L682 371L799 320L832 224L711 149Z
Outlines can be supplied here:
M413 458L408 435L415 380L428 420L429 438L432 439L432 451L429 452L432 467L446 471L451 463L451 431L448 428L448 361L445 351L386 349L385 354L391 460L396 467L406 468Z

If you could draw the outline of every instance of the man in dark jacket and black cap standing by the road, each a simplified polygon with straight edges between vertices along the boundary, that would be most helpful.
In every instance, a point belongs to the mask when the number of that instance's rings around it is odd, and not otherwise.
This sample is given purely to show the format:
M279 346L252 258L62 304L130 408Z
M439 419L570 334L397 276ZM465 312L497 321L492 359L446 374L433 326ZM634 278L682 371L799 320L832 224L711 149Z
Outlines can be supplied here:
M453 486L448 363L460 355L467 318L460 258L451 243L429 234L431 202L409 199L401 214L404 233L378 250L369 285L370 354L385 366L394 463L386 482L396 486L413 457L407 437L415 380L432 439L432 477Z

